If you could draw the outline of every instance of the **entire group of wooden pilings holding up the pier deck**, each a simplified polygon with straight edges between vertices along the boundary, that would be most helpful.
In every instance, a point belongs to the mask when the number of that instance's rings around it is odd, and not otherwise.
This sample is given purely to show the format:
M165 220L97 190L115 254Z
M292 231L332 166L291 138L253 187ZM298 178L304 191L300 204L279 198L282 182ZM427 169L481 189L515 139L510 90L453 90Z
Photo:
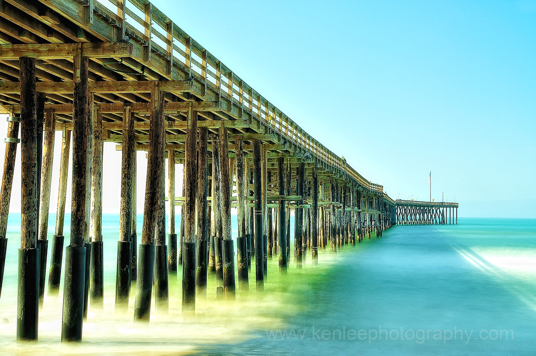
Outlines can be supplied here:
M88 60L75 57L75 61L80 71L75 77L73 92L72 132L64 130L62 137L56 227L48 271L48 293L57 296L64 270L61 339L66 342L81 341L88 303L95 309L103 306L102 120L97 117L93 95L88 92ZM20 58L20 93L20 117L9 118L0 192L0 292L20 121L22 200L17 339L36 340L47 272L55 115L44 112L46 97L36 92L33 58ZM336 252L346 244L354 245L364 236L370 238L373 230L376 236L381 236L382 231L393 224L391 206L381 194L365 192L334 176L319 178L314 161L291 162L279 155L269 165L269 154L259 140L252 140L250 156L244 152L242 140L235 139L235 153L230 154L227 129L220 127L218 133L209 135L208 129L198 128L197 112L191 106L187 113L183 161L184 200L177 203L174 182L178 152L166 150L164 97L165 93L158 88L151 93L144 214L139 239L136 234L135 116L128 107L123 113L115 308L128 309L131 282L135 281L135 321L150 320L153 286L157 310L168 309L169 278L176 278L180 267L183 313L194 313L196 298L206 297L209 273L216 276L218 297L233 300L236 284L239 290L249 289L253 264L256 289L263 290L268 259L277 257L280 272L287 271L291 257L292 209L297 268L302 267L307 251L316 264L319 248ZM71 231L69 244L64 248L71 136ZM169 164L168 230L166 155ZM233 187L236 187L236 198ZM231 236L234 201L238 224L236 247ZM178 238L175 231L177 204L181 205ZM65 265L62 266L64 253Z

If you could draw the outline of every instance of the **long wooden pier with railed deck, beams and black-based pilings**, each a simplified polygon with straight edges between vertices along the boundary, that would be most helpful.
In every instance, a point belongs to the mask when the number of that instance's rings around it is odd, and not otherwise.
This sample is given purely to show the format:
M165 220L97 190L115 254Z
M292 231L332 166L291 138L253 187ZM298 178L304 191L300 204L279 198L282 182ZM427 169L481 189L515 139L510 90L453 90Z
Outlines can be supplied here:
M57 295L65 271L64 341L81 340L88 299L91 308L102 308L103 142L122 151L115 306L128 307L134 280L138 322L150 320L153 285L157 311L167 310L168 279L177 278L178 269L183 311L193 313L196 298L206 296L207 273L217 276L212 292L232 300L235 276L239 290L263 290L267 259L274 256L285 273L292 261L297 268L306 258L322 263L318 249L335 253L371 233L381 236L397 221L421 221L414 217L422 207L394 202L146 0L3 0L0 43L0 113L9 115L0 272L19 122L22 139L20 340L38 338L48 250L47 219L39 214L47 214L50 201L54 130L63 132L63 142L48 293ZM64 249L71 137L73 210ZM148 160L139 198L136 150L147 151ZM184 167L182 197L174 186L177 164ZM144 204L139 238L137 203ZM181 205L178 236L175 205ZM236 246L231 207L238 212Z

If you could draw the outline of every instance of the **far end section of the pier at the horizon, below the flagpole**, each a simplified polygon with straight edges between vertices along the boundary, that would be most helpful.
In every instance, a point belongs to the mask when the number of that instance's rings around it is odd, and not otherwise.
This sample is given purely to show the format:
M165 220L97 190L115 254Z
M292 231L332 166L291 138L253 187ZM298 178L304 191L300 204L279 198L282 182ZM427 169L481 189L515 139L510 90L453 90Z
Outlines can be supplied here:
M458 224L458 203L397 199L393 220L398 225Z

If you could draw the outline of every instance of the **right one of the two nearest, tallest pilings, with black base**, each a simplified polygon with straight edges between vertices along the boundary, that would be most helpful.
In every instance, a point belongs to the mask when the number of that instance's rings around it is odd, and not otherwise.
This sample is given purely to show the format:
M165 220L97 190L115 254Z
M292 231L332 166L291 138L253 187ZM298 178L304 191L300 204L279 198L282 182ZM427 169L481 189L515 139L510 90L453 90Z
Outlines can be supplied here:
M78 63L80 77L75 78L73 94L71 241L69 246L65 248L62 342L81 342L84 316L88 58L75 58L75 64L78 65Z

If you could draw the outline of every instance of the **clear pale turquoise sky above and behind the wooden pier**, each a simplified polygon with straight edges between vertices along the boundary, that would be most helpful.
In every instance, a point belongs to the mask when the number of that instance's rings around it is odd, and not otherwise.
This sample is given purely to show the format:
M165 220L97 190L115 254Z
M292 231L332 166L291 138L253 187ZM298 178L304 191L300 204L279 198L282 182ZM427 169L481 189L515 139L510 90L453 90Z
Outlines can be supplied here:
M431 170L460 217L536 217L536 1L153 3L392 198L428 200ZM105 212L120 161L107 144Z

